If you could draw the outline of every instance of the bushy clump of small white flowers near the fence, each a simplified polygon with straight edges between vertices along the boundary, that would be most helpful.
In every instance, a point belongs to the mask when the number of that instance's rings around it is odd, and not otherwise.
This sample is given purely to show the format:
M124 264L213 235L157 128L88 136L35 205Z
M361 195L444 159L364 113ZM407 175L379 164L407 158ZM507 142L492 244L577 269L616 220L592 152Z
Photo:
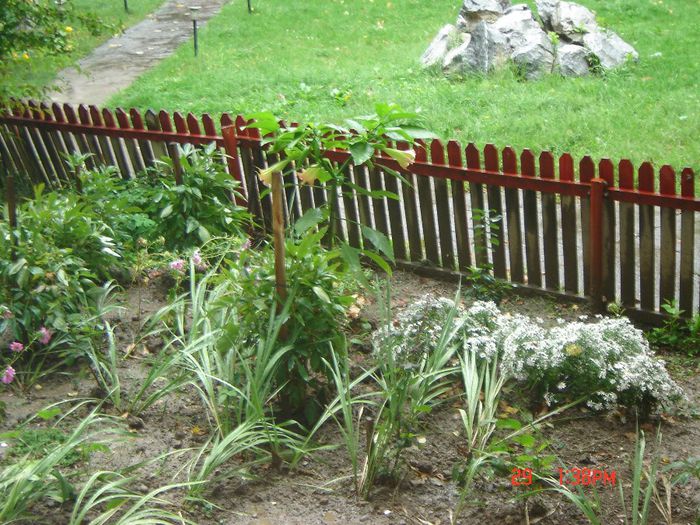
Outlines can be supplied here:
M439 320L449 300L425 298L400 314L375 337L396 339L401 355L421 356L435 347ZM492 302L461 308L455 318L464 351L482 360L497 358L503 375L531 387L547 404L581 396L593 410L617 405L648 413L683 397L641 330L627 318L581 317L541 320L502 313Z

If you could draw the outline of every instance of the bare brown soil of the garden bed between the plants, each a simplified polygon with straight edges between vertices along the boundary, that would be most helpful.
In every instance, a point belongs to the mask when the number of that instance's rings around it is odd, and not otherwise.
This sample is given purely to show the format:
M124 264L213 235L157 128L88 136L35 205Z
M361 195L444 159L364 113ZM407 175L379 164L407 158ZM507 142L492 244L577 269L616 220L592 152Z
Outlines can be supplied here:
M431 293L453 297L456 286L396 272L393 278L394 304L397 307ZM140 299L139 299L140 297ZM134 387L146 371L150 355L158 351L158 341L140 342L138 334L145 317L165 304L162 287L131 289L126 294L128 309L118 319L118 334L129 358L122 363L127 389ZM138 314L139 303L141 315ZM505 311L523 313L545 319L573 319L586 313L577 304L552 302L537 298L508 298L502 304ZM376 305L369 304L364 319L376 322ZM136 343L136 345L135 345ZM358 350L353 355L359 367L371 357ZM700 456L700 421L697 407L700 401L700 363L698 360L678 361L671 366L676 379L685 388L690 408L679 414L663 414L645 423L649 454L655 452L653 436L661 425L663 441L657 452L662 464ZM0 431L12 429L18 422L42 407L69 397L87 397L94 392L89 374L82 371L54 376L42 383L40 390L29 393L0 395L7 403L8 418ZM519 417L532 407L522 393L506 391L505 410ZM430 414L422 432L426 441L406 451L406 468L398 483L380 484L369 501L354 496L350 464L342 446L307 456L298 468L274 471L269 467L255 469L253 479L230 481L213 488L208 494L220 507L209 510L183 505L183 511L197 523L209 524L447 524L456 507L460 489L452 481L455 465L464 461L461 423L458 406L446 403ZM517 412L512 412L513 410ZM201 446L207 438L208 422L201 410L196 393L185 391L169 396L152 406L138 420L125 418L131 436L116 441L110 453L96 453L88 465L89 471L99 468L119 469L169 451ZM552 418L553 425L544 431L544 439L567 467L585 467L616 471L617 482L630 493L630 458L634 453L635 421L624 413L595 414L585 409L571 409ZM338 444L341 440L333 425L327 425L319 435L319 444ZM12 446L12 442L9 442ZM159 468L142 470L137 490L148 491L172 481L182 465L181 458L172 457ZM160 463L159 463L160 465ZM586 523L586 519L562 496L542 492L526 498L527 487L514 487L508 472L477 479L468 505L458 523L496 525L519 523ZM603 523L624 523L617 487L583 488L599 500ZM671 494L673 523L693 524L700 516L700 483L691 481L676 486ZM67 507L67 506L66 506ZM60 524L68 508L37 509L42 523ZM665 523L652 508L650 523Z

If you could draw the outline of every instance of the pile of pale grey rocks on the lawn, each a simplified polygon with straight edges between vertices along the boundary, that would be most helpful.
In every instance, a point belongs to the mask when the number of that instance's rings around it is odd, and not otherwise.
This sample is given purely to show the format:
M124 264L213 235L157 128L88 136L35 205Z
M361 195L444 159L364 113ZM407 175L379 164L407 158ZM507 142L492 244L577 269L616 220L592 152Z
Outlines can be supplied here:
M446 73L488 73L514 63L528 79L559 72L588 75L616 68L639 55L616 33L598 26L586 7L564 0L536 0L538 18L510 0L464 0L456 24L438 32L421 57Z

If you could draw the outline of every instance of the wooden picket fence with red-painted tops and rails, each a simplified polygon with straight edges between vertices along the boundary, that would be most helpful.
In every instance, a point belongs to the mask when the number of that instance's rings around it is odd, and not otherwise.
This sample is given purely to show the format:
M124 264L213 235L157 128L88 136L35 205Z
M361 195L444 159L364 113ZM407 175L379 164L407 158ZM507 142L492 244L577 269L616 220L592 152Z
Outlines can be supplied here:
M250 211L270 227L269 196L260 198L257 178L267 155L258 130L240 116L224 114L217 122L206 114L29 102L0 115L0 127L5 171L25 177L25 184L52 187L72 176L64 154L91 153L91 165L113 165L134 177L156 159L176 156L172 144L215 143L228 155L227 169ZM343 151L326 154L338 163L347 158ZM400 171L410 184L383 168ZM407 169L379 157L374 169L351 165L346 177L398 199L371 199L350 186L330 195L291 176L286 219L337 199L345 240L361 247L361 226L370 226L392 239L404 266L458 275L490 264L496 277L523 290L589 298L597 307L615 301L651 322L668 300L687 315L700 310L700 199L690 168L677 174L662 166L657 173L648 162L638 169L628 160L616 165L588 156L576 163L569 154L557 159L491 144L480 151L435 140L416 147ZM494 219L500 227L491 227Z

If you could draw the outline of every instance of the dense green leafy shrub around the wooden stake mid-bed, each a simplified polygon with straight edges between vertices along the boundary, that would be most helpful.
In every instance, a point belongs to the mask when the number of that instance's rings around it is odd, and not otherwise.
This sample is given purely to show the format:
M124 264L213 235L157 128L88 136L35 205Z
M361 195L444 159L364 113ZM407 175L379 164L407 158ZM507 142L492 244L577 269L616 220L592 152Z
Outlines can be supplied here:
M319 375L328 373L323 360L332 360L329 343L338 342L346 308L353 303L349 274L344 271L339 250L319 247L324 234L325 229L321 229L286 242L292 305L285 324L285 344L291 350L285 354L275 382L283 387L281 398L286 408L292 412L303 408L309 420L316 419L321 408L309 403L309 394L319 391ZM236 302L241 329L252 339L265 332L268 321L263 313L276 301L273 261L271 247L244 251L240 270L235 270L237 274L232 277L240 286Z

